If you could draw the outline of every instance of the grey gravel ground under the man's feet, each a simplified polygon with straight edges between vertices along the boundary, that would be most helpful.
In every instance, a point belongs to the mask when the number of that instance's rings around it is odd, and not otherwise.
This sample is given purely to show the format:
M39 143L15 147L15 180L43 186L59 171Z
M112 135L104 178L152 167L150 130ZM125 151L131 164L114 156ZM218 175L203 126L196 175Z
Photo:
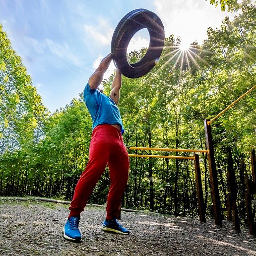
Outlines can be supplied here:
M121 223L130 235L100 229L102 207L86 207L81 213L82 242L64 240L62 227L68 206L45 202L0 200L0 254L3 255L256 255L256 237L249 230L236 233L232 223L222 227L213 220L123 212Z

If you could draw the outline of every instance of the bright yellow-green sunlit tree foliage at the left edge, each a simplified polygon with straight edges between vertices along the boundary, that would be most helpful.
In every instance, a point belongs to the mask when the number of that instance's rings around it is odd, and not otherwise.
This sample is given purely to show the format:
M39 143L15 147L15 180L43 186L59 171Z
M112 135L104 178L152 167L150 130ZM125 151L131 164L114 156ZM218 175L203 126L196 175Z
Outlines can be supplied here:
M40 136L47 115L31 77L0 26L0 154L20 149Z

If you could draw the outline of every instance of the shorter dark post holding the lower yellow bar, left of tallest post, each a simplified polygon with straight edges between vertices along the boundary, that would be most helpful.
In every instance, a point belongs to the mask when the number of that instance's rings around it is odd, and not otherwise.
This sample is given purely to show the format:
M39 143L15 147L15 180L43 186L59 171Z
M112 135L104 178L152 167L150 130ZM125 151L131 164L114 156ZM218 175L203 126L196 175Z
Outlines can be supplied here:
M194 154L194 170L195 170L195 182L196 182L196 192L197 192L197 199L198 199L198 206L199 206L200 221L206 222L205 205L203 202L201 171L200 171L198 154Z

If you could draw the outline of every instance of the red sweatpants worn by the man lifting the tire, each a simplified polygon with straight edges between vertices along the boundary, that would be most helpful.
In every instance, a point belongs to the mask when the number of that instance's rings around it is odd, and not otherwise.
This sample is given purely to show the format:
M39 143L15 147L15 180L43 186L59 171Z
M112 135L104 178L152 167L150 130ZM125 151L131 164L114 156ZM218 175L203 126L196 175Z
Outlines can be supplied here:
M84 210L93 188L108 164L110 189L107 199L107 219L116 218L128 181L129 158L121 131L111 125L93 129L89 162L76 184L69 217L78 217Z

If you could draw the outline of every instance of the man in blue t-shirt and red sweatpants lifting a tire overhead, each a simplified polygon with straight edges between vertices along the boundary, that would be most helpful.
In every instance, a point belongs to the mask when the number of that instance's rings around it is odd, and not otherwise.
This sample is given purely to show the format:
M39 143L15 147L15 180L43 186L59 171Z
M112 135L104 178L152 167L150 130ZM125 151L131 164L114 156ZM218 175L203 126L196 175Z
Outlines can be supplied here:
M120 71L117 69L110 97L98 89L111 60L112 57L109 54L101 61L84 89L84 101L93 121L93 131L89 148L89 162L75 187L69 207L70 213L63 227L64 238L72 242L81 241L78 229L80 213L84 210L92 190L105 171L107 164L111 184L107 199L107 216L101 228L108 232L129 234L129 230L117 221L129 169L128 152L122 137L124 127L117 107L122 86Z

